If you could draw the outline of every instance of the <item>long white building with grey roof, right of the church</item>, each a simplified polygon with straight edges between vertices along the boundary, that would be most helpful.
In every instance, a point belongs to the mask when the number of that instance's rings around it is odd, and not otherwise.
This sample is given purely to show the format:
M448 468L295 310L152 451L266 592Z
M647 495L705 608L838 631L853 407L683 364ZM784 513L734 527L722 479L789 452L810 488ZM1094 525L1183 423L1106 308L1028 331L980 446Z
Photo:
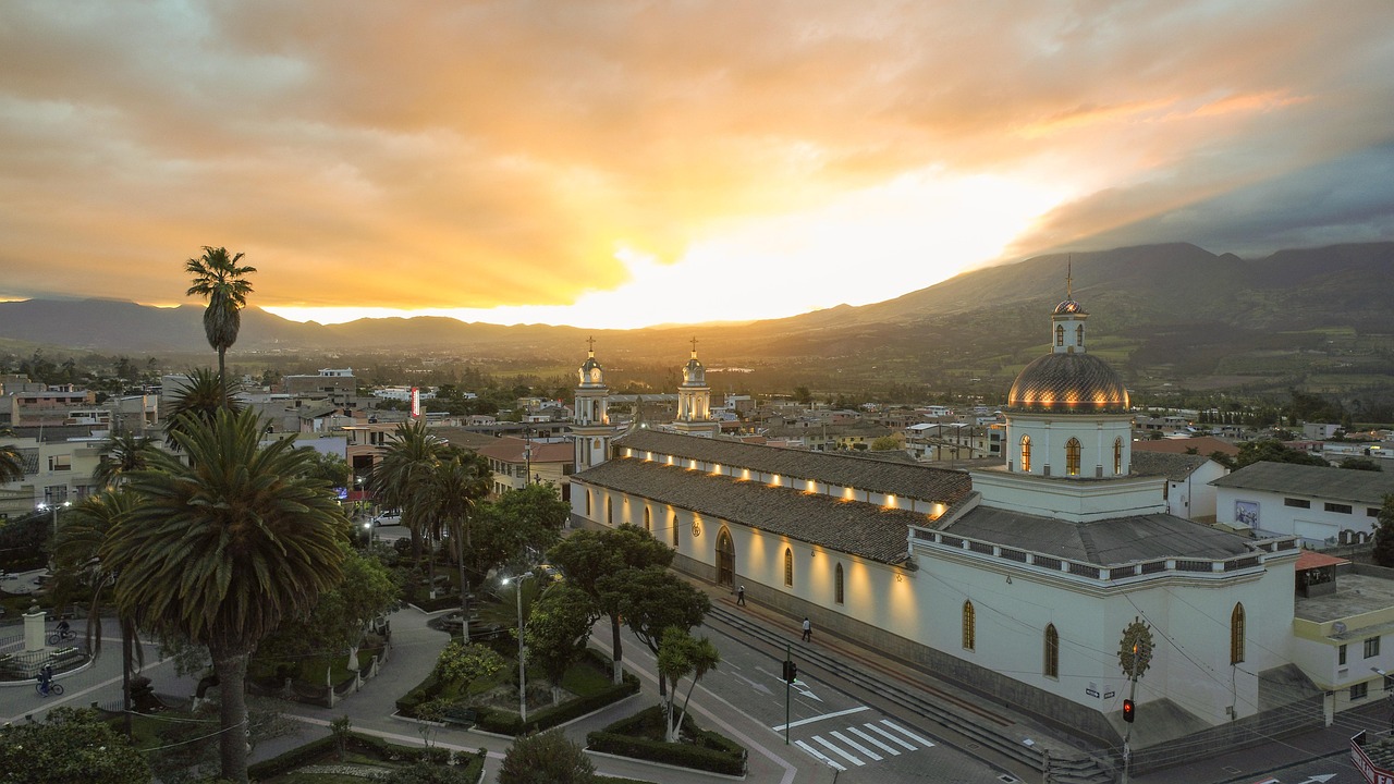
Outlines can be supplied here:
M1216 487L1218 522L1312 545L1365 541L1374 533L1394 474L1296 463L1252 463Z

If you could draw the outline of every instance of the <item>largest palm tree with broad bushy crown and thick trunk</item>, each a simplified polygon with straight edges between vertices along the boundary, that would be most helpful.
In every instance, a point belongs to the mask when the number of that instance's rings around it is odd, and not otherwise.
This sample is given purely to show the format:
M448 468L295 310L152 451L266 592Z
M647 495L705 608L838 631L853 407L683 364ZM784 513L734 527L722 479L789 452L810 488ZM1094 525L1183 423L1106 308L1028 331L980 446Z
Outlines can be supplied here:
M293 441L259 446L251 412L188 420L174 438L188 463L156 452L127 476L141 502L99 557L121 566L118 612L208 647L222 777L247 781L247 660L282 618L309 612L342 579L348 520L330 488L305 476L308 456Z

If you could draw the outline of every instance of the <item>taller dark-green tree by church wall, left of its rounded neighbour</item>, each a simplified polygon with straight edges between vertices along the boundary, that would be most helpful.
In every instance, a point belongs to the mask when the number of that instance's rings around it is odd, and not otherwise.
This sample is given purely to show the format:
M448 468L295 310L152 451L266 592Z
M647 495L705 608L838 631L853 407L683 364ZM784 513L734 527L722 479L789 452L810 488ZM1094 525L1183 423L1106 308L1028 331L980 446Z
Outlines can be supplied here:
M673 551L638 526L625 523L618 529L579 530L552 547L548 559L560 566L570 585L585 591L601 614L611 621L611 644L615 650L615 682L623 682L625 650L620 644L620 608L623 593L604 590L601 579L625 568L668 568Z

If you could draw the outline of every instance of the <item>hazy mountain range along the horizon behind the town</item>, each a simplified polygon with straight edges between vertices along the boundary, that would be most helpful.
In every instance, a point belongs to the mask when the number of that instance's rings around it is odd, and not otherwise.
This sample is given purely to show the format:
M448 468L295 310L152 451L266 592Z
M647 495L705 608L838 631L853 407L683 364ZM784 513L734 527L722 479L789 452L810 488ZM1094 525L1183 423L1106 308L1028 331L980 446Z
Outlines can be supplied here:
M1090 349L1136 388L1262 388L1326 375L1388 385L1394 243L1284 250L1260 259L1185 243L1040 255L861 307L634 331L425 317L319 325L254 307L243 314L233 356L449 353L541 367L576 361L594 335L611 365L676 368L697 333L708 367L778 367L821 384L815 388L836 375L843 382L991 391L1044 349L1047 314L1065 299L1066 269L1073 297L1092 314ZM0 339L102 353L206 352L202 312L194 304L153 308L112 300L0 303Z

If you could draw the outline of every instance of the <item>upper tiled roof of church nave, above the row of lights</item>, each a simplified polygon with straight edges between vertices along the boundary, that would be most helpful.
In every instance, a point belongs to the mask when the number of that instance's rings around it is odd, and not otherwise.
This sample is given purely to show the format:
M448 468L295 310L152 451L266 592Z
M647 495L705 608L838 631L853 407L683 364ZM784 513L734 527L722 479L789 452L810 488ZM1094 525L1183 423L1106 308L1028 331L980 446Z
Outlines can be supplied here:
M618 438L620 448L629 446L640 452L655 452L690 458L694 460L740 466L769 474L841 487L889 492L899 498L919 498L952 504L972 490L972 480L965 472L935 469L923 465L889 463L873 460L845 452L809 452L804 449L781 449L760 444L740 444L719 438L696 438L652 430L636 430Z

